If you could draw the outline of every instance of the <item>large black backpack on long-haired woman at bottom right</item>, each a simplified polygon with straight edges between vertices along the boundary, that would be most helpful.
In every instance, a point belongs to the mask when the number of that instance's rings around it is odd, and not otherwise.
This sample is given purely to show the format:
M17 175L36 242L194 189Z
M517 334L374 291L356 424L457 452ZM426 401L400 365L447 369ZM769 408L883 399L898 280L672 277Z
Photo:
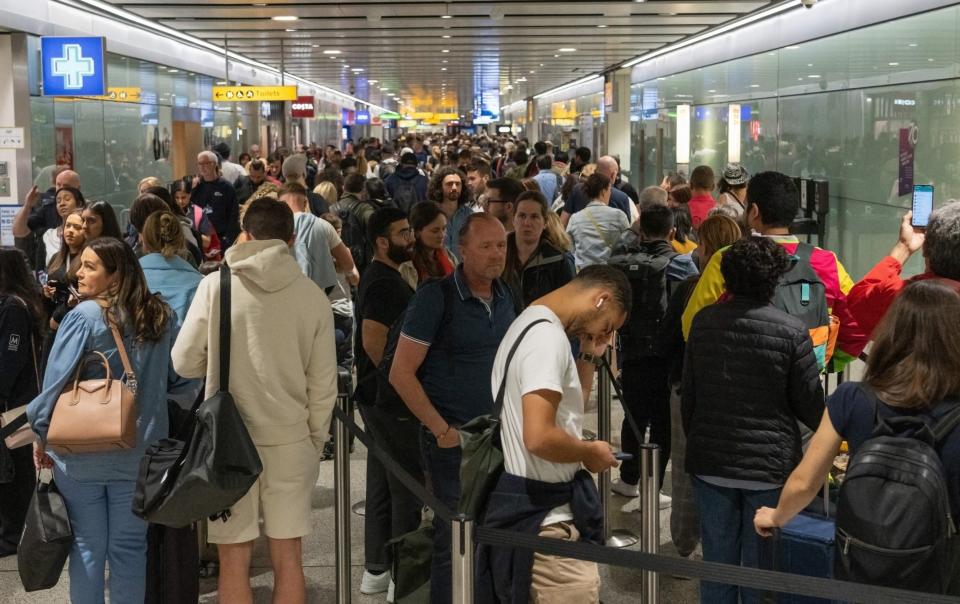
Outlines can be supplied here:
M837 579L946 592L958 550L938 455L960 424L960 404L949 404L953 409L932 425L916 416L882 420L876 412L873 434L850 459L840 487Z

